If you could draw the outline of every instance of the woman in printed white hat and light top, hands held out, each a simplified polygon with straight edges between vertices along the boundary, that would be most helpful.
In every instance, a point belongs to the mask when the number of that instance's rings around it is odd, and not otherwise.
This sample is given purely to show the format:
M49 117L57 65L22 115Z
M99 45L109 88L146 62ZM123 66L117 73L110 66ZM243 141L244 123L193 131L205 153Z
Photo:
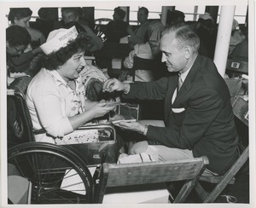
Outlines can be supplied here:
M60 144L63 136L92 118L102 117L113 107L105 101L87 100L83 78L84 51L89 42L75 26L49 33L42 49L46 54L43 68L32 79L26 92L26 103L33 128L46 133L35 136L37 142Z

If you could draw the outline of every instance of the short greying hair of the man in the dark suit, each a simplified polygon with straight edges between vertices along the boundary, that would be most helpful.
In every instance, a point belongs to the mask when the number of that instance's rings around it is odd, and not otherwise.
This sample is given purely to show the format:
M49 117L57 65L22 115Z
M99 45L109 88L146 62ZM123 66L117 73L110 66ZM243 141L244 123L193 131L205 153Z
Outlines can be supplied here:
M167 26L162 36L165 34L174 33L175 38L179 42L180 48L189 45L195 52L200 47L200 38L197 36L193 26L185 22L176 22Z

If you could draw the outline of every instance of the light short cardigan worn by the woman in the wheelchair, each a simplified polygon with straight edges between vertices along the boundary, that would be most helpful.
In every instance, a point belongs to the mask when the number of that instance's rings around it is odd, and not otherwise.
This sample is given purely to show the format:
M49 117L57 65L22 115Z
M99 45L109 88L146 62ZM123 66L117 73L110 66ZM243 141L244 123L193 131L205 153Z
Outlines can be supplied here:
M55 143L73 131L68 117L84 112L85 92L82 78L76 81L73 91L58 72L44 68L32 79L26 92L33 128L44 129L47 134L36 135L37 142Z

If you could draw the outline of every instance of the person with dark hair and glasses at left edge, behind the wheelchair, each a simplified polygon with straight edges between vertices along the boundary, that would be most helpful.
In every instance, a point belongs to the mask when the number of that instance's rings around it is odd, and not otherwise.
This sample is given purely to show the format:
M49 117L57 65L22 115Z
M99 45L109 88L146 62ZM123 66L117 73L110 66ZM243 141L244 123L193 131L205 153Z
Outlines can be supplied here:
M10 72L25 72L34 76L41 68L42 49L32 49L31 36L26 28L9 26L6 29L7 66Z

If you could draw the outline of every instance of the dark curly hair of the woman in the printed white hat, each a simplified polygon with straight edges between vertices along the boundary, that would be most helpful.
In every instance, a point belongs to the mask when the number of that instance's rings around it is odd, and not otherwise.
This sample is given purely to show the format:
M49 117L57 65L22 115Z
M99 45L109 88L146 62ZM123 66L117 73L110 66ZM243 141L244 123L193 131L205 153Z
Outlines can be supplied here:
M55 70L64 65L74 54L79 51L90 50L91 44L84 32L80 32L78 37L70 41L67 46L61 47L57 51L44 56L43 67L48 70Z

